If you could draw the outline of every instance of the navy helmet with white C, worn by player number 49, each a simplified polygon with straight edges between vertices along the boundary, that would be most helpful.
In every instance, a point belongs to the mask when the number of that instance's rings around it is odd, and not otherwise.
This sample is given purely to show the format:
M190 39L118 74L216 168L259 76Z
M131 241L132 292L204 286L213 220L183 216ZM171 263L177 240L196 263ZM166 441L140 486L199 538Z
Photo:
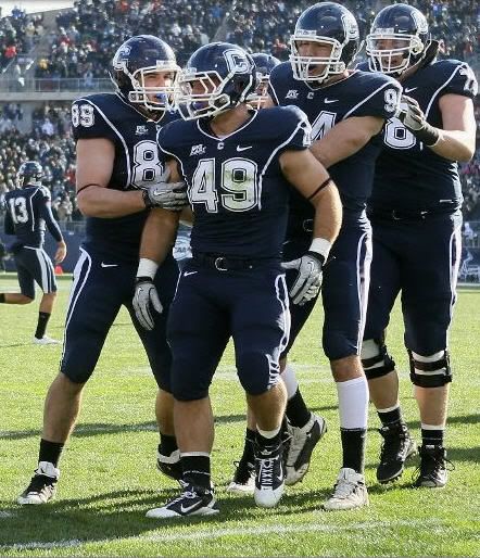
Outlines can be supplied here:
M184 119L213 117L243 103L255 90L252 56L229 42L195 50L178 79L176 101Z

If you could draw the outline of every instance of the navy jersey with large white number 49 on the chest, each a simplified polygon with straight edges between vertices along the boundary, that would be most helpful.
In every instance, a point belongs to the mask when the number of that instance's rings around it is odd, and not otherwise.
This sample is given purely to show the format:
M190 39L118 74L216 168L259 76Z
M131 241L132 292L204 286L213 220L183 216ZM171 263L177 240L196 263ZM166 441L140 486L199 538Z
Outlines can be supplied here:
M193 252L247 258L280 257L291 185L279 155L310 147L311 127L296 107L252 111L218 138L205 121L174 122L160 149L179 163L194 212Z

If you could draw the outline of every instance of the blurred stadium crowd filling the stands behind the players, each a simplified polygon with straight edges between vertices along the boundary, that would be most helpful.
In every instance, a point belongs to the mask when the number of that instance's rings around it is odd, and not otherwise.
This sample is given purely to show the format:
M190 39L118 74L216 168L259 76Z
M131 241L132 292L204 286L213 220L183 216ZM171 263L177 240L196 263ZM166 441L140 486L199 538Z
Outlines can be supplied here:
M269 51L280 60L289 55L289 38L306 0L75 0L73 10L56 16L51 52L39 60L36 77L77 78L86 84L108 78L112 55L122 40L138 33L160 35L177 53L182 65L199 46L212 40L226 23L227 40L251 52ZM377 9L376 0L345 1L355 13L364 37ZM428 15L432 36L442 39L443 56L460 60L480 54L480 4L473 0L413 0ZM235 8L233 10L231 8ZM42 15L26 15L16 9L0 20L0 67L16 52L29 50L42 34ZM362 59L362 54L359 56ZM88 86L87 86L88 87ZM25 157L39 157L52 201L72 204L61 208L67 218L80 219L75 203L74 147L70 131L68 103L46 105L36 111L33 130L18 131L23 118L21 103L0 105L0 199L13 188L15 172ZM477 139L480 141L480 103L477 101ZM462 165L465 195L464 215L480 219L480 154ZM60 202L59 202L60 203ZM1 211L1 210L0 210Z

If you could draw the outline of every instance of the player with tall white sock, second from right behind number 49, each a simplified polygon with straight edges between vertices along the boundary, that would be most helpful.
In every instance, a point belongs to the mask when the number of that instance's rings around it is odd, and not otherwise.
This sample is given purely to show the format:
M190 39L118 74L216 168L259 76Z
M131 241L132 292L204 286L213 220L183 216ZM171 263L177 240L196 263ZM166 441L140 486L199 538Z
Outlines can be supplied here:
M325 253L323 346L330 360L339 396L343 459L326 509L351 509L368 504L364 479L368 385L359 358L365 322L371 229L366 217L375 160L386 119L399 111L401 87L378 74L351 71L358 50L358 26L352 13L334 2L305 10L291 38L290 62L274 68L270 97L277 105L293 104L308 116L312 151L329 168L342 200L343 221L336 244ZM312 234L312 210L292 192L283 257L299 258ZM289 276L287 275L287 281ZM287 456L287 483L306 473L315 444L326 430L311 414L287 365L288 350L308 318L315 301L293 304L292 335L282 357L289 389L287 417L292 440Z

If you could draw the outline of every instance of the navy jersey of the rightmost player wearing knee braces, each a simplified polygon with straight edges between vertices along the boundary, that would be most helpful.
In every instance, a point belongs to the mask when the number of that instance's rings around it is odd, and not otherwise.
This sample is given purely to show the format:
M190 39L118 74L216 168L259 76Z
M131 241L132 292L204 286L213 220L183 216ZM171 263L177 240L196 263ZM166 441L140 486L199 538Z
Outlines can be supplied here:
M402 81L404 94L418 101L427 121L442 128L439 100L444 94L473 99L478 84L465 62L441 60ZM384 149L377 160L374 193L377 210L444 210L462 205L457 163L437 155L418 141L399 118L383 131Z

